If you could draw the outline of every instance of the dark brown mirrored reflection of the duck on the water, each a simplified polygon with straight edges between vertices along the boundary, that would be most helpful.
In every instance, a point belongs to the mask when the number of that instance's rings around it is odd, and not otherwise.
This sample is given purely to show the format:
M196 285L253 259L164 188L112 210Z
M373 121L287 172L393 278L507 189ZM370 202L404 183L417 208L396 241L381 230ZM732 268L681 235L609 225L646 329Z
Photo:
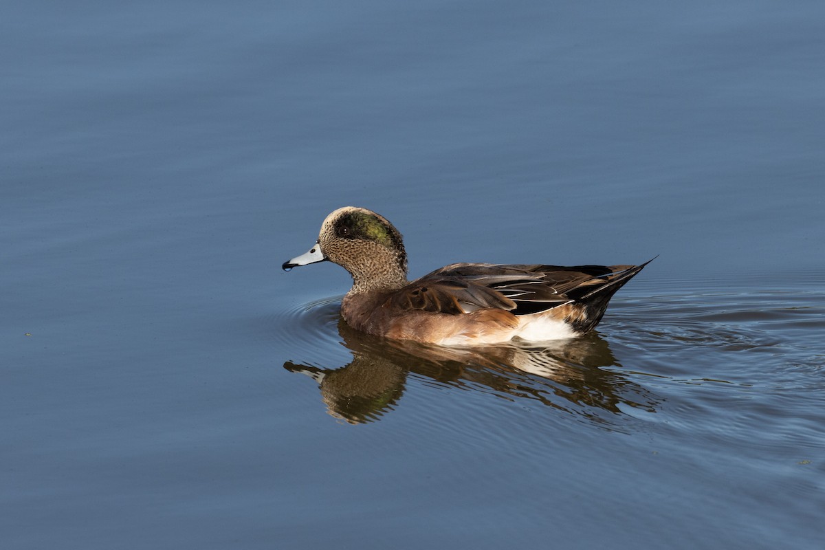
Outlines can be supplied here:
M426 346L368 336L338 322L352 362L337 369L295 364L284 368L318 382L330 415L351 424L375 421L392 411L410 373L447 386L526 399L594 421L621 407L654 412L658 400L622 374L607 342L596 333L537 347L515 343L483 348Z

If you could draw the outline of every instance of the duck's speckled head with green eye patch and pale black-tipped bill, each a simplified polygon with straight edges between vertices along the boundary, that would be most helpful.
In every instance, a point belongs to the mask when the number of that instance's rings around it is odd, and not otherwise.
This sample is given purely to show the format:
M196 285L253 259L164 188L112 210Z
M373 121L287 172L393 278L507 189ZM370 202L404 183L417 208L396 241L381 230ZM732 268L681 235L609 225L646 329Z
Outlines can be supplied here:
M407 279L403 237L392 223L372 210L345 206L321 224L318 241L309 252L284 262L284 270L318 261L332 261L349 271L356 284L381 285Z

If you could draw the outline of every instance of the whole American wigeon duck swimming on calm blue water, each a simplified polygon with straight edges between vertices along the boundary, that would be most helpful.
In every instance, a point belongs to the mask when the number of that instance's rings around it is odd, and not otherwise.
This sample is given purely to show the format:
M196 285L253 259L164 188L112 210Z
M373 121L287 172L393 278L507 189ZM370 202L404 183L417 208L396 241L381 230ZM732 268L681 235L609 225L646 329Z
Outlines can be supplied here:
M341 314L375 336L446 346L569 338L601 320L615 291L640 266L451 264L407 280L398 229L380 214L346 206L323 220L309 252L284 270L332 261L350 272Z

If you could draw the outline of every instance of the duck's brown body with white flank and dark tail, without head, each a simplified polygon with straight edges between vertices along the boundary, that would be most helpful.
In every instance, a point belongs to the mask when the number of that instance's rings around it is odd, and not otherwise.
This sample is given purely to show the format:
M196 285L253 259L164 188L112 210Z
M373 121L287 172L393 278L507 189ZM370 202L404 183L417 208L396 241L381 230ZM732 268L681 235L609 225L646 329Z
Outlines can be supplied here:
M640 266L451 264L400 289L347 297L353 327L391 338L474 345L577 336Z

